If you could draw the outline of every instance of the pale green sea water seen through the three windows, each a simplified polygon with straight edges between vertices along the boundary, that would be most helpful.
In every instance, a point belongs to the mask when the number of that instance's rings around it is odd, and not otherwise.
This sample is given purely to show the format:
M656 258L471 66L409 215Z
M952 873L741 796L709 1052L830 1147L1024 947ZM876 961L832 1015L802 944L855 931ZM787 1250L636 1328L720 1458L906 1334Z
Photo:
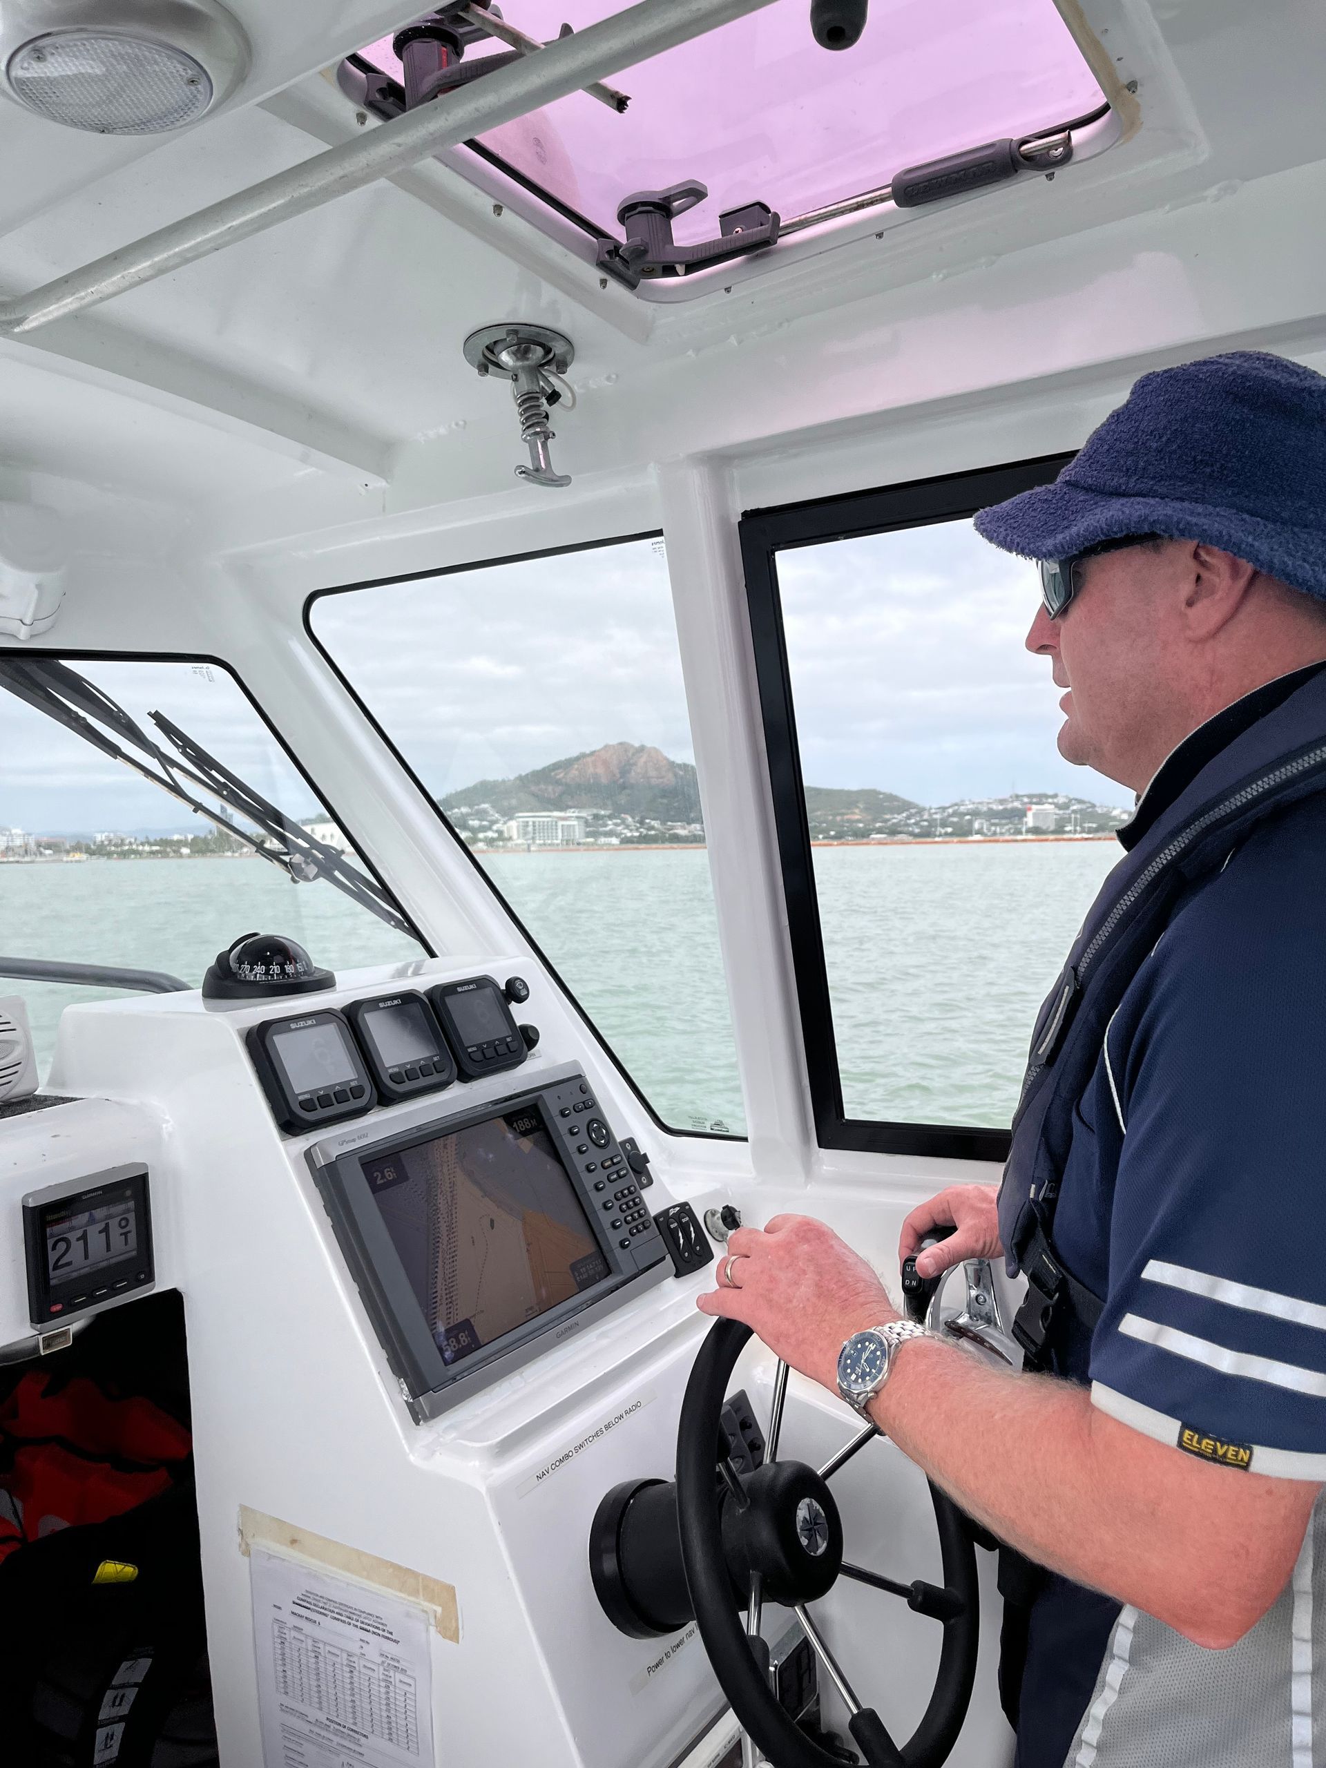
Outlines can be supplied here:
M1114 842L815 849L815 886L850 1117L1006 1126L1027 1038ZM654 1112L746 1128L704 850L484 854L481 863ZM0 955L166 971L196 987L249 930L331 969L419 948L332 886L251 859L0 866ZM5 981L42 1073L60 1011L108 990ZM758 1036L758 1029L757 1029Z

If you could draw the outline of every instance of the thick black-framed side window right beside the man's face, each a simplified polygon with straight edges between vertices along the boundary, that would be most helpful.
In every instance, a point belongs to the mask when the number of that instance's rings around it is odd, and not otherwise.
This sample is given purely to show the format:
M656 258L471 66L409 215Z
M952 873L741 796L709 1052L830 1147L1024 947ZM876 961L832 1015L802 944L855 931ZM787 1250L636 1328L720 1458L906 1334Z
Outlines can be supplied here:
M1121 857L1132 794L1063 760L1063 690L1024 647L1036 568L969 520L1057 465L744 525L827 1146L997 1158L1036 1008Z

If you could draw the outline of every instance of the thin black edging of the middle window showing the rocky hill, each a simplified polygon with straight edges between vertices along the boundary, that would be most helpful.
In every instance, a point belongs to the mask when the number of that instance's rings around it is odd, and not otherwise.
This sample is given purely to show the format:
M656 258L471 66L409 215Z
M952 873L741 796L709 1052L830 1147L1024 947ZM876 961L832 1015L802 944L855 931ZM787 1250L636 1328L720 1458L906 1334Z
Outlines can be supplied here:
M539 960L539 964L546 971L548 979L553 983L555 988L559 988L562 992L566 1002L571 1006L571 1010L576 1013L576 1017L585 1025L585 1029L589 1031L589 1034L594 1038L594 1041L598 1043L598 1047L603 1052L605 1059L608 1063L612 1063L612 1066L617 1070L617 1073L621 1075L621 1078L626 1082L626 1086L631 1089L631 1093L635 1094L635 1098L640 1101L642 1110L645 1112L645 1116L649 1117L649 1121L654 1124L654 1128L658 1132L661 1132L663 1135L682 1137L686 1140L746 1144L750 1140L750 1135L735 1135L732 1132L721 1132L721 1130L686 1130L686 1128L681 1128L677 1124L665 1123L659 1117L659 1114L654 1110L649 1096L644 1093L644 1089L636 1082L636 1078L631 1073L631 1070L617 1055L617 1052L613 1050L612 1043L606 1040L606 1036L599 1031L599 1027L591 1018L589 1010L585 1006L582 1006L582 1002L576 999L576 994L571 988L571 985L560 974L560 971L552 962L552 958L543 949L543 946L534 937L534 934L529 930L529 926L525 925L525 921L516 914L514 907L507 902L506 895L499 889L497 880L493 877L490 877L490 873L484 870L483 863L479 861L477 854L474 854L472 849L469 849L465 845L465 842L460 838L460 833L453 827L451 820L447 819L447 813L442 810L442 806L437 803L437 799L428 790L428 787L424 785L424 781L419 778L419 774L414 769L414 766L408 760L408 757L403 753L403 750L398 748L396 741L389 735L389 732L378 721L378 718L373 713L373 709L368 705L368 702L359 693L359 690L355 688L355 684L348 679L348 675L345 674L345 670L339 667L339 663L336 661L336 658L322 644L322 640L318 638L318 635L313 629L313 605L318 603L318 601L322 601L322 599L325 599L327 596L348 596L348 594L352 594L357 589L387 589L392 583L419 583L424 578L460 576L460 575L463 575L467 571L488 571L488 569L495 569L497 566L504 566L504 564L529 564L529 562L537 560L537 559L562 559L568 553L598 552L598 550L601 550L605 546L628 546L628 545L631 545L631 541L663 541L665 546L667 546L667 536L665 536L663 529L644 529L644 530L635 532L635 534L610 534L610 536L605 536L601 539L592 539L592 541L571 541L566 546L536 546L536 548L530 548L527 552L502 553L497 559L469 559L469 560L465 560L461 564L431 566L431 568L428 568L424 571L394 571L394 573L391 573L387 576L366 576L366 578L359 578L354 583L329 583L324 589L315 589L304 599L304 631L308 633L308 640L313 645L313 649L324 659L324 663L332 672L332 675L336 677L336 681L339 681L339 684L350 695L350 698L359 707L359 711L364 716L364 720L368 721L368 725L373 728L373 732L378 735L378 739L385 744L385 748L389 750L389 753L396 758L396 764L400 766L401 773L415 787L415 790L419 792L419 797L423 799L424 806L437 817L437 820L442 824L442 829L446 831L446 834L454 843L454 847L465 856L467 863L474 868L474 872L479 877L479 880L483 882L484 889L490 891L490 895L497 900L497 903L502 909L502 912L506 914L506 918L514 926L514 930L529 944L530 951L534 953L534 956ZM674 624L675 624L675 605L674 605ZM690 707L688 707L688 725L690 725ZM709 847L709 838L707 838L707 833L705 833L705 852L707 852L707 847ZM727 967L723 967L723 988L725 988L725 992L728 992ZM728 992L728 1013L732 1013L732 995L730 995L730 992ZM741 1080L741 1075L737 1075L737 1080ZM743 1110L744 1110L744 1100L743 1100Z

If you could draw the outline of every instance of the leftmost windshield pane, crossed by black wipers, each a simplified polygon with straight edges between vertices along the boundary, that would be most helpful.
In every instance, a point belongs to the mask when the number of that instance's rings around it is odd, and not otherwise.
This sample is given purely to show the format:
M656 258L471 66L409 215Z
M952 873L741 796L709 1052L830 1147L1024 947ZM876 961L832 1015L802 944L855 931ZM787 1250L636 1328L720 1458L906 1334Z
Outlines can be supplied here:
M217 663L0 652L0 958L196 987L253 930L297 939L329 969L423 953ZM42 1071L60 1011L110 994L0 974L0 995L28 1008Z

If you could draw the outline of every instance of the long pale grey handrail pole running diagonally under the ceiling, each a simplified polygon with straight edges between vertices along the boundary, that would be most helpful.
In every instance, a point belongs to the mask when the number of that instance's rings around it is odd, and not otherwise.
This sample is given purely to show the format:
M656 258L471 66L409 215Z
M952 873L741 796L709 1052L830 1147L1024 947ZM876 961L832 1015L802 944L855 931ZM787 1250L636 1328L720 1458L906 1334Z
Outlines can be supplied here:
M322 203L387 179L430 154L460 147L472 136L568 97L605 74L633 67L771 4L773 0L638 0L636 5L569 37L557 37L537 53L499 67L444 99L421 104L246 191L223 196L221 202L171 221L78 271L57 276L27 295L0 301L0 334L23 336L110 301L127 288L156 281L233 246L235 240L320 209Z

